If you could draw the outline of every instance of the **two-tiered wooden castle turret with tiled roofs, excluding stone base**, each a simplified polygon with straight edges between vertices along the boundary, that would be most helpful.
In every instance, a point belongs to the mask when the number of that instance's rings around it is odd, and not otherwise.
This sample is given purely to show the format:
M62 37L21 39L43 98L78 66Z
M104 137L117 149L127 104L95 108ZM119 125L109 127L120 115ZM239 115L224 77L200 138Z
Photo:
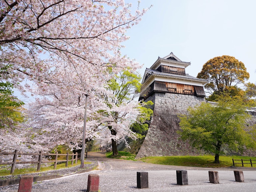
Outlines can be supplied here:
M141 99L147 99L154 92L183 94L205 97L203 84L207 80L198 79L185 73L190 62L183 62L173 53L156 60L146 69L141 89Z

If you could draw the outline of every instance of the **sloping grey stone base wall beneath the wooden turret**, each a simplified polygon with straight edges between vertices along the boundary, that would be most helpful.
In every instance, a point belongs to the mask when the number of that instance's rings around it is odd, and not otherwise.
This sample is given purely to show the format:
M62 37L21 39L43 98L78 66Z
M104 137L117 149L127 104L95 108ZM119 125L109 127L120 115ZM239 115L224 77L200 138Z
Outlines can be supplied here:
M191 95L154 93L146 99L152 100L153 116L147 135L136 158L145 156L196 155L188 143L181 141L176 133L179 130L178 114L185 113L188 106L194 107L205 102L204 97Z

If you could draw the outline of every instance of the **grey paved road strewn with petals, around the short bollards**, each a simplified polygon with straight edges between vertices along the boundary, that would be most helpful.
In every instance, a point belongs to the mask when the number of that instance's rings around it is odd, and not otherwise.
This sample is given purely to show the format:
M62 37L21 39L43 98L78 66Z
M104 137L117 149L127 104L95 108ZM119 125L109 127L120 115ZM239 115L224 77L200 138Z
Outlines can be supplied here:
M99 156L102 155L101 157ZM32 192L85 192L88 174L99 174L101 192L256 192L256 168L244 168L245 182L235 182L233 170L240 168L196 168L148 164L138 161L107 159L102 153L88 158L97 159L98 170L87 173L70 175L59 179L42 181L33 184ZM176 170L188 171L189 185L179 186L176 180ZM219 172L220 184L209 183L209 170ZM137 171L147 171L149 188L138 189ZM5 192L17 192L18 185Z

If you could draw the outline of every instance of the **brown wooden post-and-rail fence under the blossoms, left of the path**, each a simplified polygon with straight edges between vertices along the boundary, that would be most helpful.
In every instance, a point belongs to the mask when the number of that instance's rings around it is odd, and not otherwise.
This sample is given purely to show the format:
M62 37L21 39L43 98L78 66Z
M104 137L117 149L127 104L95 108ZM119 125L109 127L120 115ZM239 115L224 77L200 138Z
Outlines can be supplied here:
M12 162L0 162L0 165L12 165L11 167L11 174L14 173L15 170L15 165L16 164L37 164L37 171L40 171L40 167L42 163L51 163L54 162L54 169L56 169L57 167L57 163L58 162L66 162L66 167L68 166L68 162L71 161L71 165L75 163L77 163L77 160L80 159L80 157L78 157L78 155L81 156L81 154L78 153L66 153L66 154L59 154L58 152L56 153L42 153L42 151L40 151L39 153L21 153L18 152L18 150L15 150L13 153L12 152L0 152L0 155L13 155L13 161ZM38 161L17 161L17 157L18 155L38 155ZM43 156L54 156L55 155L55 159L54 160L46 160L43 161ZM58 156L66 156L66 160L58 160ZM69 157L71 156L71 159L69 159ZM86 153L86 157L87 157L87 153Z

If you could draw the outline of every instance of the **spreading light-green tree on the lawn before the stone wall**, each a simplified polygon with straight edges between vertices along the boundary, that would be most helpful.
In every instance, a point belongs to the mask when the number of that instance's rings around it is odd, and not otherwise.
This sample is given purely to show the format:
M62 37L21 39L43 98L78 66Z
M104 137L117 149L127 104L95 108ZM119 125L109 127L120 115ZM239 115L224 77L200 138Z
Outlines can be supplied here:
M189 107L187 115L180 115L178 133L183 140L205 152L215 154L215 163L223 149L242 151L255 147L255 127L245 128L250 118L240 97L219 96L218 103L202 103Z

